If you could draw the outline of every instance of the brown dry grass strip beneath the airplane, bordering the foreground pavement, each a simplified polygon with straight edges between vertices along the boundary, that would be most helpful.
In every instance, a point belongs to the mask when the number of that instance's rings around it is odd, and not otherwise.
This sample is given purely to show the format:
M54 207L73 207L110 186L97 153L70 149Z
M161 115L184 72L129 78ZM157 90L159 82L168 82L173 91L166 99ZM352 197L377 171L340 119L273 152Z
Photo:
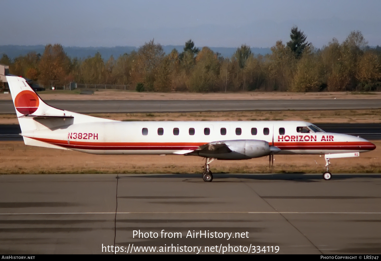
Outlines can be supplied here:
M333 173L381 173L381 141L376 150L356 158L331 159ZM39 148L24 142L0 142L1 174L55 173L201 173L204 159L182 155L91 155L77 151ZM274 173L322 173L319 155L275 155ZM215 173L269 173L269 158L213 161Z

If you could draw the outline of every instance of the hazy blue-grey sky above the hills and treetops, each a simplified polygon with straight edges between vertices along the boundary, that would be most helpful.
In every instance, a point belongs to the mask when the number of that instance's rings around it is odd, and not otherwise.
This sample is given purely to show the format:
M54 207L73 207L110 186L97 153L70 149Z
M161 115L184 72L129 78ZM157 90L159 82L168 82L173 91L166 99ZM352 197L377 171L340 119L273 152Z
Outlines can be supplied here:
M380 0L8 0L0 45L271 47L296 25L315 47L353 30L381 45Z

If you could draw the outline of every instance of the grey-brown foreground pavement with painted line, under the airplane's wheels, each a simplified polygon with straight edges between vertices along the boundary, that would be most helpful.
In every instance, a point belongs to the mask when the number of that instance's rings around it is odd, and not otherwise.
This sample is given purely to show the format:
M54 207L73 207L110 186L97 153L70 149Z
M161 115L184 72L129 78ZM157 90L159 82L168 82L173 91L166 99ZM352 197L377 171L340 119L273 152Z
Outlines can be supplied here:
M290 254L381 252L381 174L214 176L206 183L196 174L2 175L0 253L98 254L114 240L130 251L134 244L132 253L172 244L202 246L200 253L228 244ZM133 238L139 229L158 238ZM161 238L162 230L182 237ZM232 238L186 238L193 230Z

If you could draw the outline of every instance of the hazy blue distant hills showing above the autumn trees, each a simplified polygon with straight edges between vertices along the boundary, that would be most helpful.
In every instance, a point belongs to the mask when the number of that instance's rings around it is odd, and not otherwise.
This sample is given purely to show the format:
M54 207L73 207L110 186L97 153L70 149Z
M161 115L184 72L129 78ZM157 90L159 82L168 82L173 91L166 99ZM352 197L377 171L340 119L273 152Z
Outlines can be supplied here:
M163 50L166 54L170 53L173 48L178 52L182 52L184 45L163 45ZM200 47L199 47L200 48ZM209 47L213 52L219 52L222 56L230 58L237 48L234 47ZM0 56L3 54L8 55L14 59L20 55L26 55L29 52L43 53L45 45L0 45ZM139 47L134 46L116 46L116 47L64 47L65 52L71 58L86 58L94 56L95 53L101 53L102 57L107 60L111 55L117 58L124 53L130 53L133 50L139 50ZM251 52L255 55L266 55L271 53L270 48L251 48Z

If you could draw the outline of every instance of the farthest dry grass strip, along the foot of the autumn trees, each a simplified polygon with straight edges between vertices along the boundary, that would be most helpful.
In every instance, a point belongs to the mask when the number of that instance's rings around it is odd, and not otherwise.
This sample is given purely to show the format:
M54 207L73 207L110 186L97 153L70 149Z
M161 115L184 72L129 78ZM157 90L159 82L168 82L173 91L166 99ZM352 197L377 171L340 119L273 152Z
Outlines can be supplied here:
M134 92L96 90L93 95L80 95L80 90L46 90L38 92L43 100L283 100L283 99L381 99L381 92ZM0 100L12 100L0 94Z

